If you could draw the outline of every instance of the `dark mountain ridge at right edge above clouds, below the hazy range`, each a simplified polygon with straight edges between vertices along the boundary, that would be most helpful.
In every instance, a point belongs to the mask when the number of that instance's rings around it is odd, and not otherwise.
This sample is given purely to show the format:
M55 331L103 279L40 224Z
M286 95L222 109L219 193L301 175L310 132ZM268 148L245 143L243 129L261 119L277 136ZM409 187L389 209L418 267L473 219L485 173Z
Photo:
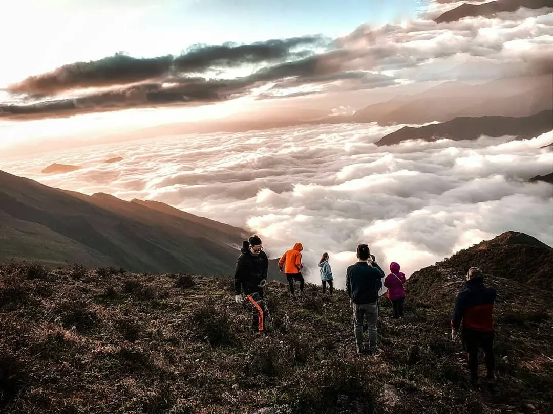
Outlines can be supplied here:
M385 135L376 145L394 145L407 140L453 141L476 140L481 135L498 137L516 136L518 140L531 139L553 129L553 110L514 118L510 116L480 116L478 118L454 118L441 124L403 128Z

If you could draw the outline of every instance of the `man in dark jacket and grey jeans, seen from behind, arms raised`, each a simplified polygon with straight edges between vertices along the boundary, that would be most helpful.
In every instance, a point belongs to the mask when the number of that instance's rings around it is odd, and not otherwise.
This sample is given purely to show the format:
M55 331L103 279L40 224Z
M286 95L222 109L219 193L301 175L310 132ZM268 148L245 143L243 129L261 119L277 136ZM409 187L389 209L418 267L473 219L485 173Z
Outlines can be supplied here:
M378 356L378 291L382 286L384 272L371 256L369 246L357 246L359 261L346 270L346 290L353 313L354 336L357 353L363 349L363 318L367 317L369 332L369 355Z

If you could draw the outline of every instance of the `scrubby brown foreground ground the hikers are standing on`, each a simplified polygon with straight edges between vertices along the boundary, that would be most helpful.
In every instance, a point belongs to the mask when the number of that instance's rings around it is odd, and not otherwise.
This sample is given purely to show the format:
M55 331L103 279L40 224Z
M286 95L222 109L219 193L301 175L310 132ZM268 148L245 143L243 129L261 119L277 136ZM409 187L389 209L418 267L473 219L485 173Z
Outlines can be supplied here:
M505 247L521 245L506 245ZM519 265L528 260L520 257ZM474 263L471 263L474 264ZM468 266L468 264L467 264ZM271 281L268 338L227 278L36 264L0 268L0 411L7 413L488 413L553 409L550 293L490 275L498 384L473 388L452 342L462 269L408 280L405 319L385 319L383 353L354 352L345 291L307 284L291 300ZM483 367L482 367L483 369Z

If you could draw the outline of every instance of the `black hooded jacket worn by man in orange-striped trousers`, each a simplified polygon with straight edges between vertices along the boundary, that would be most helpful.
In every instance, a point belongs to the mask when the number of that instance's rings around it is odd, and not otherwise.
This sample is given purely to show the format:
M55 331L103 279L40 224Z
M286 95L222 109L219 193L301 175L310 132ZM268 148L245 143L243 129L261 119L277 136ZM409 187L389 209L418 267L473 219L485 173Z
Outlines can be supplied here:
M263 293L263 288L259 283L265 279L267 281L267 272L269 270L269 258L264 251L259 252L257 256L249 250L249 245L244 242L242 254L236 261L234 270L234 293L237 295L242 292L245 295L254 292Z

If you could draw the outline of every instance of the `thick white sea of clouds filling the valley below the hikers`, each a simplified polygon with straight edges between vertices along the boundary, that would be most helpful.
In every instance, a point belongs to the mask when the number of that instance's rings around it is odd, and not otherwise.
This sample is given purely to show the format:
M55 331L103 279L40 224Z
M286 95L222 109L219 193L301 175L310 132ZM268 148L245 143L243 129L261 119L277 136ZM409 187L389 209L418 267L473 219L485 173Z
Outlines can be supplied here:
M368 243L385 270L396 261L408 276L507 230L553 245L553 186L526 182L551 172L553 152L540 147L553 141L553 131L524 141L374 144L397 128L166 136L44 153L0 169L87 194L163 201L247 227L271 258L301 242L308 279L319 280L326 251L338 287L358 243ZM124 160L103 163L115 156ZM40 173L54 162L83 168Z

